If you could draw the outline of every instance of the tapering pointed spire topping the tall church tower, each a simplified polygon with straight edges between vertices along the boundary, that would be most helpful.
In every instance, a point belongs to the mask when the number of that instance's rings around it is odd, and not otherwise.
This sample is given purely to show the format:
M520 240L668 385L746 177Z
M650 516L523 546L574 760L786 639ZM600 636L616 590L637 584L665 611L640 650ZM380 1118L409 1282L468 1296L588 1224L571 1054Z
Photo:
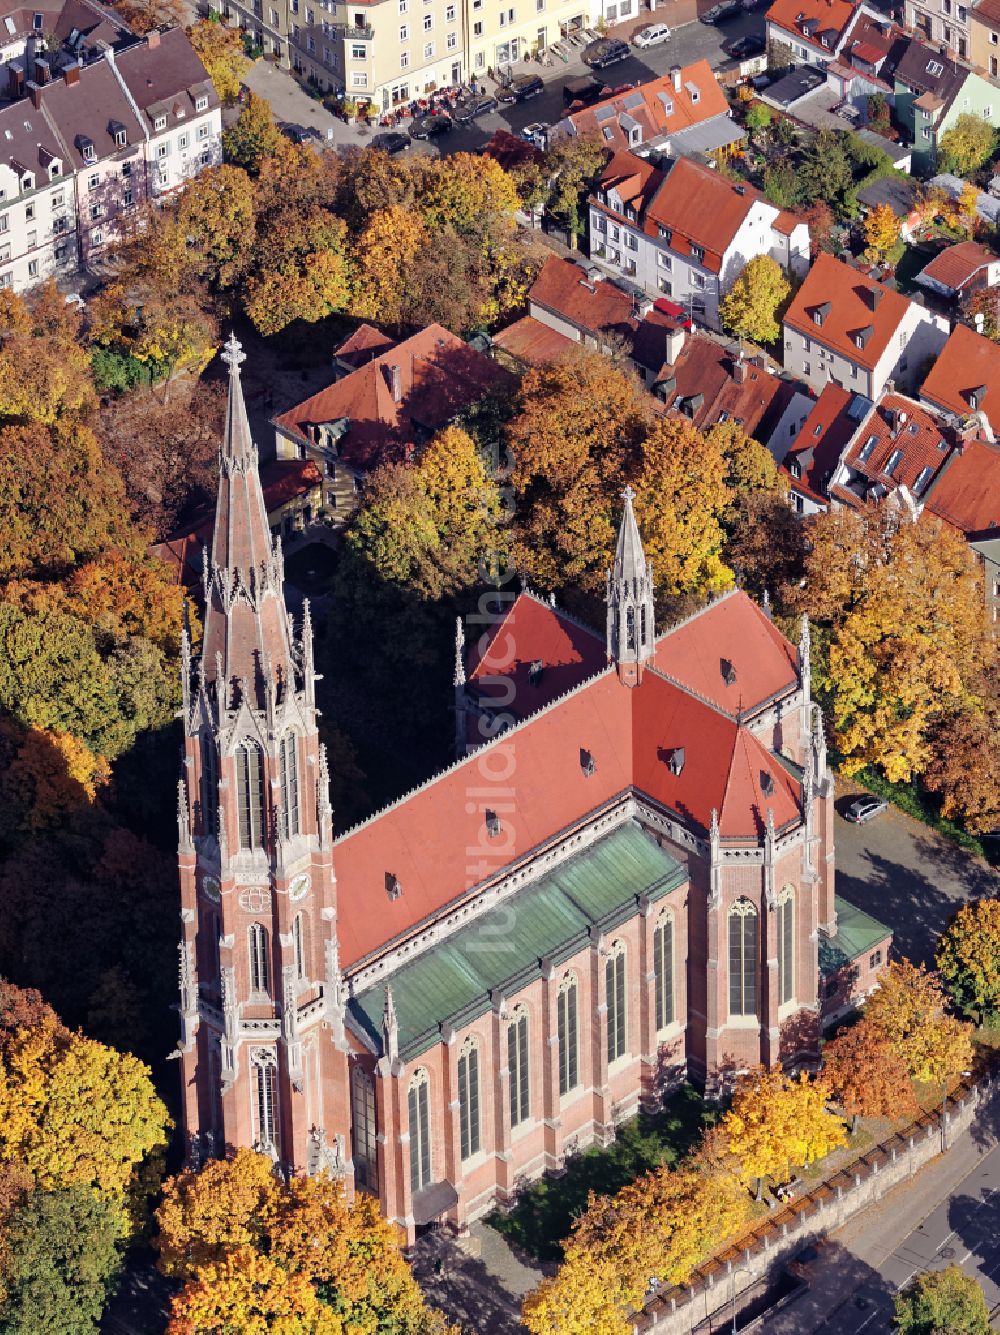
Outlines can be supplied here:
M230 395L206 574L203 661L207 676L216 678L223 708L246 696L251 708L266 709L268 684L279 696L294 688L282 553L267 523L239 374L246 358L235 335L222 356L230 368Z

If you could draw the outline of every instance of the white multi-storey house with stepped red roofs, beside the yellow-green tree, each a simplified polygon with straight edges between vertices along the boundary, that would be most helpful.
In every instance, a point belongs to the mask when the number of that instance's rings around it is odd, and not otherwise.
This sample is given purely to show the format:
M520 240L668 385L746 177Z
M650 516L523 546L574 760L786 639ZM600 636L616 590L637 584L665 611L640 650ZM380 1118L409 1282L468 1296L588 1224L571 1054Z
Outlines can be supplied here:
M618 152L590 196L590 254L718 328L720 300L756 255L805 272L809 230L753 186L690 159L662 175Z

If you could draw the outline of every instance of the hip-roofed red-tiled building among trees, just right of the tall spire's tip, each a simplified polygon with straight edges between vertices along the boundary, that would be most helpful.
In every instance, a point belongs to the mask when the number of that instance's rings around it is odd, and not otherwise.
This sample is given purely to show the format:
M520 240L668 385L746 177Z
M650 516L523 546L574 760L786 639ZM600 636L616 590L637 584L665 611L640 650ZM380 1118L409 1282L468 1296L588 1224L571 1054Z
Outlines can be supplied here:
M514 378L441 324L387 348L362 327L334 354L360 362L347 375L274 418L279 459L316 462L323 507L344 521L358 482L379 463L411 459L442 427Z

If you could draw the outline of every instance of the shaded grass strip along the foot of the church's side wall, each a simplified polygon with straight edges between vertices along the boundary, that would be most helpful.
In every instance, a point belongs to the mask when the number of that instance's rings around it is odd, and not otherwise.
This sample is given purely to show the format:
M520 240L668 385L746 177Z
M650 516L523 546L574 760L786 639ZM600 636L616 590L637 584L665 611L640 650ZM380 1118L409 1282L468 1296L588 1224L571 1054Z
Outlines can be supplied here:
M685 1085L658 1112L623 1123L613 1145L574 1155L561 1176L546 1175L526 1187L509 1212L494 1211L486 1222L513 1247L538 1260L559 1260L561 1240L591 1191L613 1193L660 1164L678 1163L718 1116L717 1107Z

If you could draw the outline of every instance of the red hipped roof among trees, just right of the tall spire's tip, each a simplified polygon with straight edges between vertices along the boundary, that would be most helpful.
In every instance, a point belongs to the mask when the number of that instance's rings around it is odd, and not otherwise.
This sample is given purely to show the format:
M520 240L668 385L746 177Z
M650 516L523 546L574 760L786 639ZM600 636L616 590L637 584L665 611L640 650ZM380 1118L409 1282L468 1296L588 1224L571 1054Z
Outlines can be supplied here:
M399 376L398 400L391 388L394 371ZM340 455L346 463L368 470L406 458L421 435L446 426L491 390L513 383L510 372L489 356L441 324L429 324L282 413L274 425L308 442L311 426L346 418L350 425L340 438Z

